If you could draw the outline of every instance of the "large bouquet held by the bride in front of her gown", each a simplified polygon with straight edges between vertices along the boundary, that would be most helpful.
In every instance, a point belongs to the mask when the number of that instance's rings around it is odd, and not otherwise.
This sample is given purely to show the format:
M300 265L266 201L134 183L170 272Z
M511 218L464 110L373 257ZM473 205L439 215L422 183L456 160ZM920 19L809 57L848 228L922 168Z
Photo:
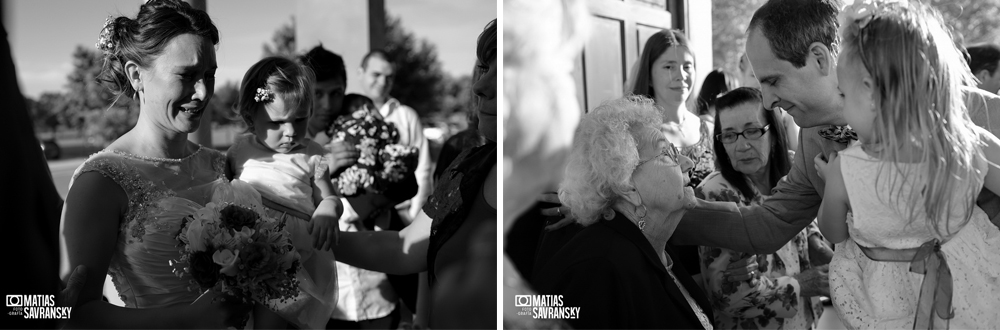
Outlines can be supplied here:
M243 302L294 298L299 254L284 223L264 214L259 203L215 201L188 215L177 235L181 257L170 262L174 273Z

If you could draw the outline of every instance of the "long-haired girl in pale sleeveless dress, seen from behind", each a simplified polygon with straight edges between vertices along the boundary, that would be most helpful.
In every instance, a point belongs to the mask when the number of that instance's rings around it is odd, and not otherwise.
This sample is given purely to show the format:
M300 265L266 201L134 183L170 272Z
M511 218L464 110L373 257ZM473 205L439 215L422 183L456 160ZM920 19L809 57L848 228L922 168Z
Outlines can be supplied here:
M857 329L994 327L1000 230L975 201L1000 192L1000 140L966 113L968 67L919 2L856 1L841 15L837 77L861 143L816 161L820 229L839 243L837 313Z

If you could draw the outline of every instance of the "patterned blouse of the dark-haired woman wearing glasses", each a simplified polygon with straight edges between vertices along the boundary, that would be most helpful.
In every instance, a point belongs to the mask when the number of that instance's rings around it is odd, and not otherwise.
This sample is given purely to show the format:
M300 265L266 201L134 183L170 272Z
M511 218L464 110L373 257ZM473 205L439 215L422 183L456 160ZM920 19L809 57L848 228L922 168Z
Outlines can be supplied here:
M760 205L763 195L743 196L722 174L713 172L695 189L698 198L735 202L742 206ZM801 288L792 275L812 268L808 237L821 235L813 221L777 252L758 255L758 280L727 282L723 273L731 262L751 254L717 247L698 247L705 290L715 314L717 329L811 329L823 306L818 297L801 299Z

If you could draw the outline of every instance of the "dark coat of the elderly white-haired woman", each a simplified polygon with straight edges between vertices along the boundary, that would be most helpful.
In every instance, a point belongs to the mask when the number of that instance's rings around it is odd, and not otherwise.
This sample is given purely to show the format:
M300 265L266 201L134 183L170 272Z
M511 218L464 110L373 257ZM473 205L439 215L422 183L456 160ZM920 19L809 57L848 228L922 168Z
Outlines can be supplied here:
M701 288L666 252L671 271L713 320ZM562 295L563 306L580 307L579 319L567 320L574 328L703 328L649 241L621 214L584 228L536 270L533 283L540 294Z

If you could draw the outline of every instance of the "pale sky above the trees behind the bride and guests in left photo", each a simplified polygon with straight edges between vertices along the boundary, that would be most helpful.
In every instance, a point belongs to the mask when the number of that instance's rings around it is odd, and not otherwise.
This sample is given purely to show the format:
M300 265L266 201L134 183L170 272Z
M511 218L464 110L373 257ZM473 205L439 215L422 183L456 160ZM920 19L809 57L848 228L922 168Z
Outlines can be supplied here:
M331 0L334 1L334 0ZM347 1L347 0L335 0ZM363 0L350 0L363 1ZM14 51L21 91L37 98L61 91L72 70L77 45L94 43L108 15L135 17L140 0L6 0L4 25ZM219 28L217 84L239 82L260 59L263 44L274 31L291 21L294 0L206 0ZM385 10L400 17L403 27L437 47L447 74L470 73L475 40L497 17L495 0L385 0ZM348 63L348 71L352 72Z

